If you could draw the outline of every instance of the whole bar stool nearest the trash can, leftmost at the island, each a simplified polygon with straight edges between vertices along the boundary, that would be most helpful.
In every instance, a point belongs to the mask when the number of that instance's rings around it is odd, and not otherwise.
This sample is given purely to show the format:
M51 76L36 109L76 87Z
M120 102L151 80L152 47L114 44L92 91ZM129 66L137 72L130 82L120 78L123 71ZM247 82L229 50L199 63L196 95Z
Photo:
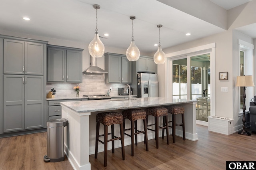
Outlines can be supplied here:
M114 140L121 140L122 145L122 157L125 160L124 156L124 127L123 120L124 117L122 114L117 112L106 112L106 113L98 113L96 115L96 142L95 142L95 158L98 156L98 143L101 142L104 144L104 166L107 166L107 151L108 151L108 142L112 141L112 153L114 153ZM100 123L104 125L104 134L99 135L100 131ZM120 125L120 136L114 136L114 124ZM111 125L111 133L108 133L108 126ZM111 134L111 139L108 140L108 134ZM99 140L100 136L104 136L104 142Z

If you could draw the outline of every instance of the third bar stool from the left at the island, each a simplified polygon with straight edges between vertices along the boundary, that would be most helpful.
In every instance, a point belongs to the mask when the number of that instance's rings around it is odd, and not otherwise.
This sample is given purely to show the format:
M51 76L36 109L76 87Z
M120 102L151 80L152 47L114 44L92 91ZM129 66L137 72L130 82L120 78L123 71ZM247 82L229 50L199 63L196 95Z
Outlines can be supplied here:
M155 132L155 140L156 140L156 148L159 147L159 143L158 143L158 133L159 133L159 129L166 129L166 137L167 137L167 144L169 144L169 130L168 130L168 110L165 107L148 107L146 109L146 113L147 113L147 127L150 126L155 126L155 129L150 129L148 128L148 130L152 130ZM148 116L154 116L155 117L155 123L148 125ZM158 120L159 117L163 116L166 117L166 124L163 125L163 127L159 127L158 125Z

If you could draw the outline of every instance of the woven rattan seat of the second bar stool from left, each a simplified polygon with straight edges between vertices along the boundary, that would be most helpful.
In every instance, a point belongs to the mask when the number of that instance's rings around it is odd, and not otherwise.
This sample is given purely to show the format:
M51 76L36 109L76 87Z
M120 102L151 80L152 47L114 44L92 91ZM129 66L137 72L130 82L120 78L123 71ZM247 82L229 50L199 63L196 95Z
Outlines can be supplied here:
M138 119L146 119L147 113L141 109L129 109L122 112L124 119L129 119L130 121L136 121Z

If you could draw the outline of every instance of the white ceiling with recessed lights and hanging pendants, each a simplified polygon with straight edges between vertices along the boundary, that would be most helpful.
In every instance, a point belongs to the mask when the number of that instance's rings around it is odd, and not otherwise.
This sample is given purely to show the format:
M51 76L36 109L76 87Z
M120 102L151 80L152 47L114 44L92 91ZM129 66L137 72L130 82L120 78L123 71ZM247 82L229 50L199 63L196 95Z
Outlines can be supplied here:
M211 1L229 9L250 0ZM163 49L225 31L157 0L1 0L4 8L1 8L0 30L90 43L96 28L93 4L101 6L98 32L108 47L129 47L130 16L136 16L134 40L145 53L157 50L154 44L159 41L158 24L163 25L160 28ZM23 20L24 16L30 21ZM105 37L105 33L109 36Z

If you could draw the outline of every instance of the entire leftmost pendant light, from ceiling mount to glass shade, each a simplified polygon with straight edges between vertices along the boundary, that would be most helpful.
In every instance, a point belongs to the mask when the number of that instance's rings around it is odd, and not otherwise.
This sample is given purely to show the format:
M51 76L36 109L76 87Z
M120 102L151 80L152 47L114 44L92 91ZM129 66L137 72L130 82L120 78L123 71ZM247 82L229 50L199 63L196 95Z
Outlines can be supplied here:
M100 41L99 34L98 34L98 9L100 9L100 6L97 4L94 4L93 8L96 9L96 29L95 29L94 38L90 42L88 49L92 57L102 57L105 51L105 47L104 47L104 44Z

